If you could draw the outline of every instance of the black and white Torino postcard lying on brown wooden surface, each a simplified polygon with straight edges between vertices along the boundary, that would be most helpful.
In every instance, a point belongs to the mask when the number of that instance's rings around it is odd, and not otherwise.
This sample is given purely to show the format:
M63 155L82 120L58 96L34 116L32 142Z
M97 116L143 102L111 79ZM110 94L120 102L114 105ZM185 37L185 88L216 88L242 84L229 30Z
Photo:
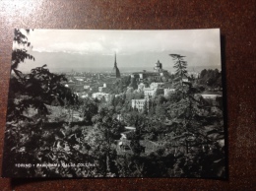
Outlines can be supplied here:
M225 178L220 30L15 30L3 177Z

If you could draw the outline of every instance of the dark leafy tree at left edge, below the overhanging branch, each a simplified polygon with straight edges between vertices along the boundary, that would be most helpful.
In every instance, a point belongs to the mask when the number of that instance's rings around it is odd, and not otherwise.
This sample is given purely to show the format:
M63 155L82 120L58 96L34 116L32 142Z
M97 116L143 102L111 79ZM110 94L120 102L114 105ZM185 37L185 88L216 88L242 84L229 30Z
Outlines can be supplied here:
M46 105L53 101L64 105L67 101L75 104L77 96L63 85L67 81L64 75L50 73L48 69L36 67L28 75L20 73L20 77L12 77L8 99L8 121L27 118L24 112L30 107L37 110L40 117L48 114Z

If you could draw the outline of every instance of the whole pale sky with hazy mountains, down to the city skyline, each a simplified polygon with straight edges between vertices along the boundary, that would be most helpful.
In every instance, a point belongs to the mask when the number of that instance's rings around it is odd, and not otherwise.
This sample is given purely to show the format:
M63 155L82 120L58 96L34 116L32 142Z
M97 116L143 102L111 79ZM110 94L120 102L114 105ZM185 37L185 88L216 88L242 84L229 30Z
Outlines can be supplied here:
M186 56L189 67L221 68L220 30L176 31L94 31L33 30L28 34L35 61L27 60L19 69L30 71L46 64L52 70L112 69L114 54L122 72L126 68L153 69L160 60L172 70L169 54ZM16 48L16 45L14 45Z

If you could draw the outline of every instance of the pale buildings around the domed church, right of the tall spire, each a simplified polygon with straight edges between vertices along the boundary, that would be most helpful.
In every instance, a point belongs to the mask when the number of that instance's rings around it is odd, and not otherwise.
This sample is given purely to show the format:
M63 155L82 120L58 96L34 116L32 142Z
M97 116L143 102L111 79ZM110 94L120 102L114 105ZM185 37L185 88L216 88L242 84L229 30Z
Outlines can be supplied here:
M191 77L194 79L199 77L199 73L190 72ZM145 108L149 108L149 100L154 96L170 96L175 93L175 88L172 85L172 80L169 78L169 73L162 69L162 64L158 61L154 67L153 72L143 71L141 73L134 73L131 75L132 80L137 79L140 82L138 85L138 92L144 93L144 98L132 99L132 107L143 111ZM149 87L145 83L152 82ZM188 78L182 79L182 82L191 83ZM223 95L220 92L204 92L202 94L195 95L198 100L204 101L209 105L222 106Z

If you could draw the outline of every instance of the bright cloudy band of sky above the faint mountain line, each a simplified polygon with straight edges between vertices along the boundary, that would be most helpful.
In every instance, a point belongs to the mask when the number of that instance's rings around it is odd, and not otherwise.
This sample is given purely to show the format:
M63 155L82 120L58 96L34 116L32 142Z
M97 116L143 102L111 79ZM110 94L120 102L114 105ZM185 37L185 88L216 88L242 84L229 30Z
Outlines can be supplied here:
M110 54L183 49L216 50L217 30L194 31L71 31L35 30L29 36L33 50ZM220 36L219 36L220 37Z

